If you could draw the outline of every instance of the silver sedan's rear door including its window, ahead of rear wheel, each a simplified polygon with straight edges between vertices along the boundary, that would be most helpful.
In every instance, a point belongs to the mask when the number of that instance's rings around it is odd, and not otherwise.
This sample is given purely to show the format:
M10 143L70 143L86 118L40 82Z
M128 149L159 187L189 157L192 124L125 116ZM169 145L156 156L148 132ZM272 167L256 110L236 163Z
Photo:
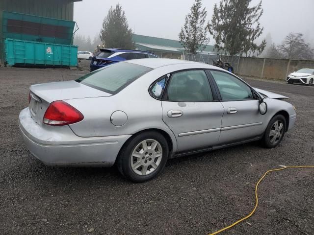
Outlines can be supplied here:
M178 152L218 142L223 106L204 70L172 73L161 102L162 119L176 136Z

